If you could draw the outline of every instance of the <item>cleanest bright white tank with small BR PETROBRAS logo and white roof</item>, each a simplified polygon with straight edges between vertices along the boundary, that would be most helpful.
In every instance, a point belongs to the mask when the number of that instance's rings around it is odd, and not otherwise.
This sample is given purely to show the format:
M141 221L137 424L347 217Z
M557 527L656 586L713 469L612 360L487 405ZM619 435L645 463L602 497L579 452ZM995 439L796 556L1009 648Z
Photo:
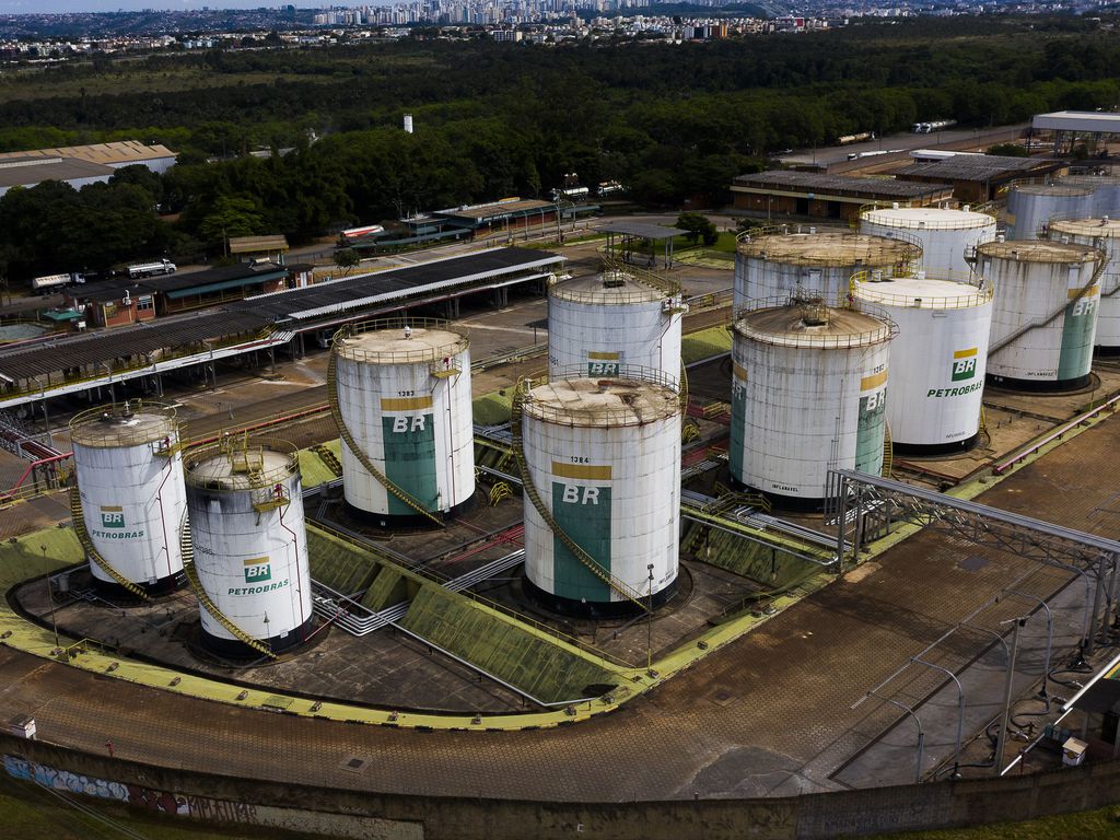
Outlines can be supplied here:
M896 449L935 454L967 449L980 431L991 284L917 272L852 281L857 307L870 304L898 325L890 343L887 422Z

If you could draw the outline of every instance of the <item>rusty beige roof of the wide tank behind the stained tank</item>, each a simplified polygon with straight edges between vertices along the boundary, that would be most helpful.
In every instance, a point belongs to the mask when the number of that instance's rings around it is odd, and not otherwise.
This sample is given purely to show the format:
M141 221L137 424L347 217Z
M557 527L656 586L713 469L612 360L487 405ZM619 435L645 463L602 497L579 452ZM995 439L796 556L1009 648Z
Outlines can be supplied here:
M889 265L921 255L917 244L852 231L763 233L743 237L736 250L744 256L793 265Z

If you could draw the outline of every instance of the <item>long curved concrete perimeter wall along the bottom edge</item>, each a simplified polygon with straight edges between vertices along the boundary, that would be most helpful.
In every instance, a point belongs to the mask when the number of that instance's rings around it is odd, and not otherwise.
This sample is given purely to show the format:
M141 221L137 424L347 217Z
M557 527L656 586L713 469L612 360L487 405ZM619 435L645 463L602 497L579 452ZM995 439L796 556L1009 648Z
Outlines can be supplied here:
M0 734L16 778L215 822L379 840L824 840L1086 811L1120 802L1120 762L1008 778L754 800L566 803L402 796L122 762ZM355 788L362 785L355 769Z

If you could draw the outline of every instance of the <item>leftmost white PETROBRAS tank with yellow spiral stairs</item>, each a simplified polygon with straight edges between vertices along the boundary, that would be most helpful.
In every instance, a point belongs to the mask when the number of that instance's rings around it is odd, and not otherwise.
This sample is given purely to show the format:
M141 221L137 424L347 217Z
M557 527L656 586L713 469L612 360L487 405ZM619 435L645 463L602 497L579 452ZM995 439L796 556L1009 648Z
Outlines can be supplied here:
M179 528L187 510L175 409L139 400L76 414L71 421L82 519L93 548L149 594L184 582ZM123 588L92 558L96 587Z

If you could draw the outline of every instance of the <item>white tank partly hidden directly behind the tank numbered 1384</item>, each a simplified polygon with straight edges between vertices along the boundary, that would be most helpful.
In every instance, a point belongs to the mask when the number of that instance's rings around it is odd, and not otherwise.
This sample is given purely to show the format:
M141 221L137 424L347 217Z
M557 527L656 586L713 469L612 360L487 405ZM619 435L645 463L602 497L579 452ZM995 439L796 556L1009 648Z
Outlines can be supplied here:
M614 376L627 365L679 376L683 312L680 286L637 272L550 283L549 372Z

